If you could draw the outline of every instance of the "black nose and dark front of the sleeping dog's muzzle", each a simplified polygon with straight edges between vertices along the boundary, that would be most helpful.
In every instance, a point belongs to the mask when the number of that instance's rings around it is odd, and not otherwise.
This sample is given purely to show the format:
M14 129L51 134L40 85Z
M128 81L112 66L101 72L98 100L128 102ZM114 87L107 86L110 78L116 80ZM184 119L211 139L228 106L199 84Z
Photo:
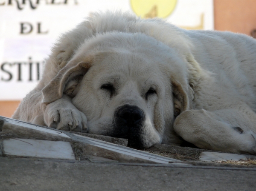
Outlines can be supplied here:
M131 145L141 145L144 112L136 105L122 105L116 109L113 119L113 137L126 138Z

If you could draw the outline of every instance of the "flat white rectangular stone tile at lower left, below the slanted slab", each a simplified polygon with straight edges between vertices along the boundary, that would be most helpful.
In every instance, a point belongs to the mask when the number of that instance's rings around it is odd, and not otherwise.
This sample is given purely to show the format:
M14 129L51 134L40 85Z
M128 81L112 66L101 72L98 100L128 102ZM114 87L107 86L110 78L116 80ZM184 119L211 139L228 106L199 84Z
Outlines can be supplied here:
M9 139L3 140L3 154L19 157L75 160L69 142Z

